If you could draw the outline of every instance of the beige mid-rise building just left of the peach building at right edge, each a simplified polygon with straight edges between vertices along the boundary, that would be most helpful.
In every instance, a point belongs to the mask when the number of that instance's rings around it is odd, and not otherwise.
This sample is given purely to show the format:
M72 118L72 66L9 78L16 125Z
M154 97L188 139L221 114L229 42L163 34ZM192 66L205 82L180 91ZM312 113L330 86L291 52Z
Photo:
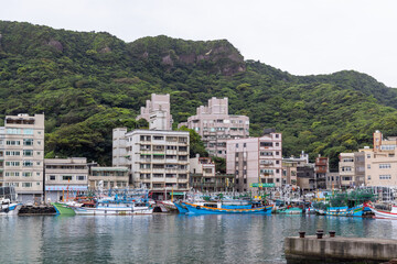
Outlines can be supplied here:
M339 174L341 188L358 187L364 185L364 152L341 153Z

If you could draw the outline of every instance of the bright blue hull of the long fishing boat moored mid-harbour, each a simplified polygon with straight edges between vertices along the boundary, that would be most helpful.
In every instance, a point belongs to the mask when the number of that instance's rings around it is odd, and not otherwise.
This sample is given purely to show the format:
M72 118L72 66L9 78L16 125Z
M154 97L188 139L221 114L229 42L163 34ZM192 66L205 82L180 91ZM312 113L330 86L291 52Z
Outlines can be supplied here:
M200 213L200 215L224 215L224 213L239 213L239 215L271 215L272 206L257 207L251 209L225 209L225 208L212 208L205 206L198 206L189 202L181 202L184 205L189 212Z

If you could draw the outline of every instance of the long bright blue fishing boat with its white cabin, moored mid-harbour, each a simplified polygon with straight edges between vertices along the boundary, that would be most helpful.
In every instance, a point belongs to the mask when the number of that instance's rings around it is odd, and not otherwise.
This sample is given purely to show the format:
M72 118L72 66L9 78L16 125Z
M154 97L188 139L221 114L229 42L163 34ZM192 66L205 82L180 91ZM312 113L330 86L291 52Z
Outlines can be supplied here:
M219 213L265 213L270 215L272 206L261 206L261 207L250 207L248 208L222 208L222 202L205 202L201 204L190 204L182 201L181 205L185 206L189 212L191 213L201 213L201 215L219 215Z

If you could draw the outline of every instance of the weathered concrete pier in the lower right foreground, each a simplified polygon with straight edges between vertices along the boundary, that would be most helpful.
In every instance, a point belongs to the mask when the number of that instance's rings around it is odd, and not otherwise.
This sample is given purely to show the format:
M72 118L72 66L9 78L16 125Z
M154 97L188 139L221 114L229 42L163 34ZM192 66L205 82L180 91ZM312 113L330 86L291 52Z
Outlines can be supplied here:
M292 237L285 252L287 263L385 263L397 258L397 240Z

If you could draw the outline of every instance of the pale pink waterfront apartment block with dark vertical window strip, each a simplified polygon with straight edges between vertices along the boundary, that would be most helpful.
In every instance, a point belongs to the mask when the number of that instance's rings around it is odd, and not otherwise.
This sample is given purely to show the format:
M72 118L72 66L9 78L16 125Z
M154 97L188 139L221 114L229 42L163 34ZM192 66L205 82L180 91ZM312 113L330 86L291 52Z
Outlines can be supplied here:
M227 141L226 172L235 174L237 191L257 183L282 185L281 133L265 132L260 138Z

